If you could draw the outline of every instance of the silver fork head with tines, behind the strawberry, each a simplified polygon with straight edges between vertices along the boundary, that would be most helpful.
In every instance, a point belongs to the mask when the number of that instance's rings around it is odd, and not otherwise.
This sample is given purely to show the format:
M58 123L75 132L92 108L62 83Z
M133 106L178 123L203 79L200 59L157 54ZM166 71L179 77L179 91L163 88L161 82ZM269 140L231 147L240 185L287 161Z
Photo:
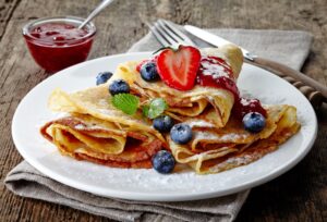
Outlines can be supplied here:
M153 24L147 23L147 26L164 47L177 48L179 45L195 46L185 34L169 21L158 20Z

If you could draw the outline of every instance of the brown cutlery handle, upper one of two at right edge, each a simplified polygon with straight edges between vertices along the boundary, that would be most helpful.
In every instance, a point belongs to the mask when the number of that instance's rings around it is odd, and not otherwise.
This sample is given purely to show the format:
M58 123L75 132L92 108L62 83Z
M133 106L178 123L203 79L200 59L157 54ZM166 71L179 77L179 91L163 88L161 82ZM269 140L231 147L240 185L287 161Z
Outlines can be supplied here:
M267 60L264 58L254 58L253 61L249 61L249 63L259 66L264 70L270 71L280 77L287 78L287 76L289 76L289 77L293 78L294 81L299 81L300 83L303 83L304 85L306 85L308 87L312 87L313 90L319 92L319 95L322 97L322 101L327 102L327 87L324 86L323 84L318 83L317 81L304 75L303 73L295 71L284 64L281 64L281 63L278 63L278 62L275 62L271 60ZM300 84L298 84L298 86ZM295 85L295 87L298 87L298 86ZM301 88L300 88L300 90L301 90ZM304 92L304 91L302 91L302 92Z

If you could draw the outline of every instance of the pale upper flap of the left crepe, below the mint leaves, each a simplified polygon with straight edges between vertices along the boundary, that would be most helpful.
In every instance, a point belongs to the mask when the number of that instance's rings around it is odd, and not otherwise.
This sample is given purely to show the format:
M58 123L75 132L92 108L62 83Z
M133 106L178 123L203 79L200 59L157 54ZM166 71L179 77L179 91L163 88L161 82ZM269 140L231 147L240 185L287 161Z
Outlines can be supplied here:
M122 128L152 134L162 143L166 141L162 135L153 128L152 122L143 118L141 110L134 115L128 115L114 108L106 85L73 94L56 89L49 98L48 106L52 111L88 114L101 121L118 124Z

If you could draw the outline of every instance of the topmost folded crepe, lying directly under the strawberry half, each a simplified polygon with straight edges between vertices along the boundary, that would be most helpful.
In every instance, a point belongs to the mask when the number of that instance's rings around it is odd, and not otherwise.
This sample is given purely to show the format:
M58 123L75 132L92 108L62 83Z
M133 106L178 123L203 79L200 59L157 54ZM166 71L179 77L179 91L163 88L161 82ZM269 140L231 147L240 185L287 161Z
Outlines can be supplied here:
M232 70L233 79L238 78L243 64L243 55L240 48L227 45L219 49L203 49L201 53L203 57L218 57L223 59ZM210 108L215 110L216 119L214 124L217 127L222 127L228 122L234 103L234 96L229 90L195 85L192 90L180 91L167 86L161 81L149 83L144 81L136 71L138 64L140 61L120 64L110 82L114 79L126 81L131 86L132 94L141 97L143 102L147 102L154 98L165 99L169 106L166 113L178 121L184 121L190 116L197 116L207 108Z

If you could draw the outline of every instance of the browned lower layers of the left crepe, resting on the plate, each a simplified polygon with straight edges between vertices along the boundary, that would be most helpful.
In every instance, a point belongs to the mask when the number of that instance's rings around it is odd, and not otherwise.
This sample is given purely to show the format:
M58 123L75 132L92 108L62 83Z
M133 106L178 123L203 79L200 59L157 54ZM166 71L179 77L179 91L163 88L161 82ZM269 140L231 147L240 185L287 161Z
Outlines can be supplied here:
M49 122L40 132L62 155L117 168L152 168L152 157L162 149L150 134L84 114Z

